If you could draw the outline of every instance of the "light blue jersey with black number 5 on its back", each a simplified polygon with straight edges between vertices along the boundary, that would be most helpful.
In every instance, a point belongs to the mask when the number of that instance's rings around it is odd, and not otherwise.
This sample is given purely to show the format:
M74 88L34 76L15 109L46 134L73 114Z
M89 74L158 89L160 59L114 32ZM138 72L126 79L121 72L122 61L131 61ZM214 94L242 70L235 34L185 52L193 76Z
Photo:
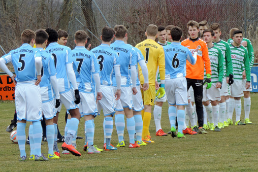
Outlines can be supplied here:
M41 55L36 50L29 44L22 44L21 47L3 56L6 63L12 61L17 82L37 80L35 57L41 57Z

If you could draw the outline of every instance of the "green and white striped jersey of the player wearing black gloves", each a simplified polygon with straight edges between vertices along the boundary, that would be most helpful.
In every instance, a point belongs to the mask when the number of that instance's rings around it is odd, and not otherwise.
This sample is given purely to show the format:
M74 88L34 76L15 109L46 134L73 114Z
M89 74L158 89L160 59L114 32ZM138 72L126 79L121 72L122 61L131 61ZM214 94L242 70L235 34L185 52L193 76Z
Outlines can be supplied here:
M213 43L216 47L218 47L223 54L223 65L224 65L224 77L229 77L230 74L233 75L233 66L231 60L231 51L229 43L219 40L217 43Z

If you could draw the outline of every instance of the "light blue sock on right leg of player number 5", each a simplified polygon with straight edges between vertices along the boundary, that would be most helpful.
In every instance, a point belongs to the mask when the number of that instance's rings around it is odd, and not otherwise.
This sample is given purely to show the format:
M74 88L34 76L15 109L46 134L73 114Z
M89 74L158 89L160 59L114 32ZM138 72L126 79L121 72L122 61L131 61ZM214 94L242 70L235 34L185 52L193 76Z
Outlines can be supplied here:
M41 121L33 122L33 140L35 145L35 155L41 156L41 140L42 140Z

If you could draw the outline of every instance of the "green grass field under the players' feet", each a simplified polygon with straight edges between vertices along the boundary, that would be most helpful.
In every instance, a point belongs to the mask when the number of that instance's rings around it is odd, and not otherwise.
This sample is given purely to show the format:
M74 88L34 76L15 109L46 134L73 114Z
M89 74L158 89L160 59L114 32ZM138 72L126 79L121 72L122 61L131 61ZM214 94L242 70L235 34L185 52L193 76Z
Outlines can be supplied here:
M26 161L18 162L20 152L18 144L10 141L10 133L6 127L13 119L14 101L0 101L0 171L257 171L258 170L258 137L256 112L258 94L251 94L250 120L252 125L231 125L221 132L208 131L208 134L186 135L186 139L173 139L168 136L155 136L153 117L150 133L154 144L137 149L128 148L128 134L125 129L124 148L117 151L104 151L100 154L83 152L83 140L77 140L77 150L81 157L61 155L59 160L46 162ZM63 134L65 110L59 115L59 129ZM95 118L94 144L103 147L103 116ZM244 121L243 99L242 115ZM235 115L233 115L235 121ZM164 104L162 115L164 131L170 130L168 105ZM26 134L28 133L28 123ZM80 121L78 135L84 137L84 121ZM112 144L117 144L117 134L114 126ZM3 142L2 142L3 141ZM58 143L61 151L61 143ZM29 145L26 145L29 156ZM47 154L47 142L42 145L42 153Z

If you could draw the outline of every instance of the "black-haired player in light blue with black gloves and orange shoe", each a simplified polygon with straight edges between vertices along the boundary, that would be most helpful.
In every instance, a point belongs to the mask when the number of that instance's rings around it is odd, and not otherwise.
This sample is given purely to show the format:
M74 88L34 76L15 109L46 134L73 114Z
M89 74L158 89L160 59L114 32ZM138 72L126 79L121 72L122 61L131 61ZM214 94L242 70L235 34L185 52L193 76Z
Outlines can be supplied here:
M66 135L66 140L62 144L62 149L71 152L75 156L81 156L81 153L78 152L72 145L73 138L76 138L81 115L77 106L77 104L80 103L80 94L76 83L75 73L73 70L73 63L71 60L68 59L68 54L71 49L69 47L57 44L58 34L54 29L47 28L46 32L49 35L46 52L52 54L54 57L60 100L72 117L70 122L67 122L68 131ZM73 89L71 88L70 82L73 85ZM57 148L57 121L58 114L56 114L56 117L54 118L54 151L59 153L59 150Z

